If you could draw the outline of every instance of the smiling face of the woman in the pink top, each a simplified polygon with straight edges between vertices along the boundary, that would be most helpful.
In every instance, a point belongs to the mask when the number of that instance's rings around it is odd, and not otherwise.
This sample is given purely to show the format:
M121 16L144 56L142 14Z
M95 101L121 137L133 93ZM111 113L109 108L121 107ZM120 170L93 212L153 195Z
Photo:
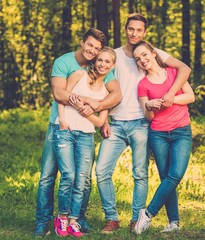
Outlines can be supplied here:
M133 56L137 65L144 70L149 70L156 62L156 53L143 45L135 48Z

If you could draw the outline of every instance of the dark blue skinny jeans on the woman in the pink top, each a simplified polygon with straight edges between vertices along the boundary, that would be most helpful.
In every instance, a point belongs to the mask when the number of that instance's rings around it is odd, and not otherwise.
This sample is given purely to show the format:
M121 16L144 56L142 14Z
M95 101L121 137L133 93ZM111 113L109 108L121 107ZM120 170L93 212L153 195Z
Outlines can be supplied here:
M167 132L150 129L149 144L161 184L147 209L155 216L165 204L169 222L179 221L176 187L188 166L192 149L191 127L189 125Z

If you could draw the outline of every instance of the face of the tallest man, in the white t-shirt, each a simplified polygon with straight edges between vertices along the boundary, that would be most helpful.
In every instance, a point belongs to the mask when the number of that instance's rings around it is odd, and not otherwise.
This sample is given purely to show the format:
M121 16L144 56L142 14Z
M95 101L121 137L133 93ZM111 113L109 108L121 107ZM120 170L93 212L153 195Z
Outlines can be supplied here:
M146 35L145 24L142 21L131 20L125 29L127 42L134 45L140 42Z

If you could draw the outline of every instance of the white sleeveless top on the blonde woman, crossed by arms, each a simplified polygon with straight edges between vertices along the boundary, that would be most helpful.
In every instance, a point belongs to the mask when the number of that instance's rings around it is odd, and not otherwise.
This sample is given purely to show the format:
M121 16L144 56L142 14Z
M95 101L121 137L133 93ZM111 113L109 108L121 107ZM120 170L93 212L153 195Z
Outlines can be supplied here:
M93 99L102 100L106 94L107 90L103 85L101 91L94 92L89 88L89 83L87 81L88 74L85 71L83 77L79 80L79 82L75 85L72 90L72 93L77 95L90 97ZM71 106L65 106L64 108L64 117L65 120L69 123L72 130L82 131L85 133L94 133L95 126L87 119L80 115L80 113ZM56 118L56 124L59 124L59 116Z

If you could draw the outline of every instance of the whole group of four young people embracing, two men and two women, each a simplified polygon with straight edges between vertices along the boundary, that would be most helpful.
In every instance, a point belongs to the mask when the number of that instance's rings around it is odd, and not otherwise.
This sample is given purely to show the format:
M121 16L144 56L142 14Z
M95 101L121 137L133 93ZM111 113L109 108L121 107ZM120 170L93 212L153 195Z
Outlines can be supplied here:
M50 233L58 171L55 233L81 237L91 230L86 210L95 158L95 127L101 128L103 137L95 169L106 220L101 232L109 234L120 228L112 175L128 146L134 181L130 231L144 232L163 206L169 224L162 231L179 230L176 188L192 148L187 107L195 100L187 82L191 70L143 41L147 27L143 15L130 14L124 27L124 46L107 47L104 33L91 28L83 35L79 50L55 60L51 80L55 100L41 160L36 236ZM150 149L161 183L145 208Z

